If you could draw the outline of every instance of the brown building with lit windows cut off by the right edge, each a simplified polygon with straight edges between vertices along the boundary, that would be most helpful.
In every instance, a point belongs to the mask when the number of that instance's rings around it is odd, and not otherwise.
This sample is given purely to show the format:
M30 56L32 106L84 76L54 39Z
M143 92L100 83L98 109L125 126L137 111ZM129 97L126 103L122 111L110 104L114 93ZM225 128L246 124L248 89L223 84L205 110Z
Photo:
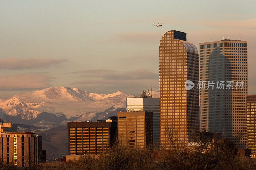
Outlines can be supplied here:
M247 95L247 146L256 154L256 95Z

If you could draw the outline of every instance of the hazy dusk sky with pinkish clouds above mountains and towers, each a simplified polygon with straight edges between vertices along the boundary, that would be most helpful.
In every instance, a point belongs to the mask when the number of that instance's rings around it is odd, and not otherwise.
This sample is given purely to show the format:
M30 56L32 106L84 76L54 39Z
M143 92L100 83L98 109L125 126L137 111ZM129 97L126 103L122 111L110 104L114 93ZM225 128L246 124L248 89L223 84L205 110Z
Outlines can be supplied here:
M256 94L256 1L0 0L0 99L52 86L95 93L159 91L159 42L248 41ZM161 27L152 26L163 23Z

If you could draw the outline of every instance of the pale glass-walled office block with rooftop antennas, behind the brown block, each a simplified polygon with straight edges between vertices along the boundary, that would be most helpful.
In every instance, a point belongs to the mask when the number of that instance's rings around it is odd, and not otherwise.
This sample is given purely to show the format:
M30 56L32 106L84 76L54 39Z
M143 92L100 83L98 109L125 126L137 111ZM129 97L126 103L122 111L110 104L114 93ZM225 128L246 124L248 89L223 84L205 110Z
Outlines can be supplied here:
M126 98L126 109L153 113L153 146L158 149L160 146L159 98L154 98L150 95Z

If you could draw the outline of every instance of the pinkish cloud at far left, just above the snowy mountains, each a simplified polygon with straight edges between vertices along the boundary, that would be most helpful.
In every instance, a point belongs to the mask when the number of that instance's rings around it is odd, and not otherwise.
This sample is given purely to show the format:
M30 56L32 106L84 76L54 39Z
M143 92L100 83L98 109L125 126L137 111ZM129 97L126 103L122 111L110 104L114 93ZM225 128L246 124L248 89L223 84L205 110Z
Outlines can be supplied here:
M11 76L0 76L0 90L24 90L39 89L52 86L52 77L47 73L35 72L15 74Z

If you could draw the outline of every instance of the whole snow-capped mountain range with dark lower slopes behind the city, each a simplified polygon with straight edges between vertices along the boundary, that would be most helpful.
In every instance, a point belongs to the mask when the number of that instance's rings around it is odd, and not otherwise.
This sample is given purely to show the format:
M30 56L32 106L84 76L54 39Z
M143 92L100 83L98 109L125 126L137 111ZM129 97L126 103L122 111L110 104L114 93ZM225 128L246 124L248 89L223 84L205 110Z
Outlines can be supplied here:
M159 92L152 91L153 97ZM116 115L125 111L125 99L136 97L124 92L97 94L79 88L49 87L19 93L0 100L0 117L14 123L36 126L66 125L67 121L86 121Z

